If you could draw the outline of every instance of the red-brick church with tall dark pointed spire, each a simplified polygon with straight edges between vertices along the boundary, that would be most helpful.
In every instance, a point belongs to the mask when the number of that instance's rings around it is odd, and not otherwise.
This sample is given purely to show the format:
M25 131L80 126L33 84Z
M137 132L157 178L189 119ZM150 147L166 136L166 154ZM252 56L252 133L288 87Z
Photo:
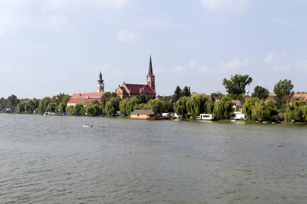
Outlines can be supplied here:
M121 99L138 96L145 94L147 100L156 97L156 84L155 74L152 72L151 55L149 57L149 68L146 76L146 84L126 84L118 85L115 93L121 97Z

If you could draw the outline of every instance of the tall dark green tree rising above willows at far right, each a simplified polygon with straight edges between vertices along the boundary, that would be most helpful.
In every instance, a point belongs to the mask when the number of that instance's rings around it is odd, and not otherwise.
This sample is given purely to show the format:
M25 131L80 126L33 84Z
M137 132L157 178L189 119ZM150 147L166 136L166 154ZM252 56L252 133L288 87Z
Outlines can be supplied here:
M292 89L294 88L291 80L283 80L279 81L277 84L274 86L274 93L276 96L274 97L277 107L280 108L286 108L287 103L289 103L291 97L294 94L294 91Z

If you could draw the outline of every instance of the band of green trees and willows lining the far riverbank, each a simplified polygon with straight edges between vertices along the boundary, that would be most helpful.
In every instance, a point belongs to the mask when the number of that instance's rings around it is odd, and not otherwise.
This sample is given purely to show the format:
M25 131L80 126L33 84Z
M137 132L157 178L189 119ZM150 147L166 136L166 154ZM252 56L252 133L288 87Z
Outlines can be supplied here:
M105 92L101 99L94 99L90 104L67 106L70 95L59 93L52 97L42 99L17 99L15 95L7 99L0 99L0 110L7 113L35 113L54 114L68 113L69 115L89 116L126 116L129 117L134 110L151 110L155 114L176 113L184 116L185 120L195 120L202 113L213 114L215 120L230 121L230 115L234 112L233 101L244 101L243 113L245 122L280 121L282 123L306 123L307 97L293 99L294 91L291 80L280 80L274 86L274 99L268 99L268 89L256 86L251 97L246 96L246 86L252 83L249 75L235 74L231 78L223 80L223 86L227 94L220 92L211 93L210 98L202 93L191 93L185 86L179 86L174 90L172 99L151 98L147 100L145 94L121 99L114 92ZM305 95L305 92L297 92ZM213 100L214 98L214 100ZM189 117L189 119L187 119ZM239 122L239 120L237 120Z

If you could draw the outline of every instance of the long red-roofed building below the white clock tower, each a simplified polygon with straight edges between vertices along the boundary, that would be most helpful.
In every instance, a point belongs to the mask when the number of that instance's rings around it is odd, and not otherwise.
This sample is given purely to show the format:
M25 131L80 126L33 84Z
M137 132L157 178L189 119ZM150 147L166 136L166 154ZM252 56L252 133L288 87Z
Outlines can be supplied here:
M104 92L89 92L89 93L75 93L67 102L67 106L76 106L77 104L86 106L96 99L101 103L101 97Z

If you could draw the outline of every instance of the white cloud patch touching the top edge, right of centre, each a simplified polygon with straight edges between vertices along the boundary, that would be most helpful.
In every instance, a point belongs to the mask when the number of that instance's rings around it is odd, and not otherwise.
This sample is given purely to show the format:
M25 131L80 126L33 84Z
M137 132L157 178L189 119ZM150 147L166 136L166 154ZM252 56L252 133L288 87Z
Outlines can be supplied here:
M249 4L250 0L200 0L201 5L209 11L227 11L238 13L243 11Z

